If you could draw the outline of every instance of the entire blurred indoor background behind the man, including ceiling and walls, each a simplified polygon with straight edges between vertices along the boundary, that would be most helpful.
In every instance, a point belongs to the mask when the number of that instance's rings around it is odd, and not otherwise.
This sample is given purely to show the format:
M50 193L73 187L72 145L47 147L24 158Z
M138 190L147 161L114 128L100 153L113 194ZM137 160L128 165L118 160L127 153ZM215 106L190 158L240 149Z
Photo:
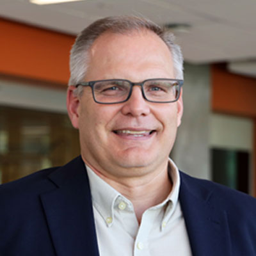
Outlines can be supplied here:
M0 0L0 183L79 155L65 109L68 55L96 19L138 15L184 53L184 116L171 157L256 196L254 0Z

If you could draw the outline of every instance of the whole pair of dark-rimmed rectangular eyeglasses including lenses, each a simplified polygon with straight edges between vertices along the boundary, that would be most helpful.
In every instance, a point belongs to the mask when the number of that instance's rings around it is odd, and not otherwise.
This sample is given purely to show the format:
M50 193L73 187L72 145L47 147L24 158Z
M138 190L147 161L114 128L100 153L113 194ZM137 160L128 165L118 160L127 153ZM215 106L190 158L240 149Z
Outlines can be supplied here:
M100 104L122 103L131 97L132 87L141 86L143 98L149 102L170 103L179 99L183 80L179 79L147 79L141 83L132 83L125 79L108 79L76 84L90 86L95 102Z

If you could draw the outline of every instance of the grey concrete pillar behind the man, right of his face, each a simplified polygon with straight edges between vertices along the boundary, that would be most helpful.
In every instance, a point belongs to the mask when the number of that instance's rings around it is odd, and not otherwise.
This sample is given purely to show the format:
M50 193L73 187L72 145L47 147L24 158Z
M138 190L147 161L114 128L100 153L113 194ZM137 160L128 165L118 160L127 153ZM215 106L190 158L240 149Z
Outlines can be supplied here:
M180 170L203 179L210 179L209 65L184 65L184 115L171 157Z

